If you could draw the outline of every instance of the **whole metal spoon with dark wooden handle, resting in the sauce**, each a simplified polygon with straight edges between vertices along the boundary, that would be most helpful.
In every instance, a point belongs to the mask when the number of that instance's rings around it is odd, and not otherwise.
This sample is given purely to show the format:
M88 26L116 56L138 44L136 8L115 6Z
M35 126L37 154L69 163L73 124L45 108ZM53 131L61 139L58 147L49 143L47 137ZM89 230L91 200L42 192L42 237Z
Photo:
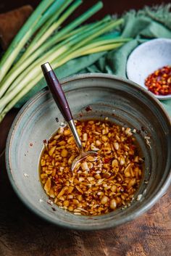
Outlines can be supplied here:
M62 113L64 120L66 121L68 127L70 128L72 136L74 137L75 142L79 149L80 154L72 162L71 170L73 171L75 169L75 166L78 164L78 162L80 162L81 160L85 159L90 155L97 156L97 152L93 152L93 151L84 152L83 145L80 141L80 137L78 135L78 131L75 127L75 123L70 111L70 107L64 95L64 91L62 90L62 86L60 85L59 80L57 79L57 76L54 73L54 70L52 70L49 62L46 62L43 65L41 65L41 69L46 79L46 83L49 86L49 89L51 91L51 94L54 97L54 101L57 103L57 106L59 107L59 110Z

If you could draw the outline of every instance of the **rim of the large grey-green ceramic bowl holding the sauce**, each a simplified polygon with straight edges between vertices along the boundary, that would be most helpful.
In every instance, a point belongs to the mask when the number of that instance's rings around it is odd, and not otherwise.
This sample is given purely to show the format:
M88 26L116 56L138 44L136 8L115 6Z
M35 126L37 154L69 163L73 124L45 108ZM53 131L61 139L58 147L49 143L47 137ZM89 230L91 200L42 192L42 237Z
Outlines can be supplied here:
M129 83L131 86L134 86L135 88L140 89L140 91L142 91L144 94L149 96L149 98L152 101L154 101L157 105L159 105L159 107L162 110L162 114L165 116L167 121L169 123L171 123L169 115L167 115L166 110L164 110L164 107L159 102L159 100L156 99L152 94L149 94L149 92L146 91L145 88L142 88L142 87L140 88L140 86L138 86L136 83L134 83L133 81L130 81L128 79L120 78L116 75L109 75L109 74L104 74L104 73L85 73L85 74L79 74L79 75L72 75L68 78L64 78L61 80L61 83L62 83L62 86L65 86L65 83L68 83L70 81L82 80L82 79L86 79L86 78L109 78L112 80L118 80L120 82ZM162 197L162 195L165 193L165 191L167 191L167 189L169 188L170 183L171 183L171 169L170 169L170 173L168 173L168 175L167 175L167 178L163 181L161 188L159 189L159 191L157 191L157 194L154 195L153 199L151 199L150 202L147 202L146 205L143 206L143 208L138 207L138 209L136 209L134 212L131 212L130 215L125 216L120 221L117 220L117 223L112 222L112 223L109 223L109 225L104 224L101 226L71 226L68 223L57 223L57 220L53 220L48 215L43 214L40 210L38 210L38 208L35 208L34 205L32 205L28 201L28 199L22 195L22 193L20 193L20 190L18 189L17 184L15 183L15 181L13 179L11 167L9 164L9 162L10 162L9 148L10 148L10 144L12 143L12 136L13 136L15 129L17 128L17 123L19 123L20 120L22 119L22 115L25 115L25 112L27 112L28 107L30 105L34 104L34 102L38 99L38 97L41 97L43 94L46 94L47 91L48 91L47 87L41 89L41 91L38 91L33 97L31 97L28 100L28 102L26 102L22 106L21 110L18 112L17 116L14 118L14 121L12 123L12 126L9 130L9 134L7 137L7 144L6 144L6 151L5 151L6 168L7 168L7 174L9 176L9 181L12 184L12 188L14 189L15 193L17 194L17 197L19 197L21 199L23 204L26 207L28 207L29 210L31 210L33 213L36 213L36 215L41 217L43 220L49 221L49 223L53 223L57 226L61 226L62 228L70 228L70 229L81 230L81 231L95 231L95 230L101 230L101 229L106 229L106 228L114 228L116 226L120 226L124 223L129 222L130 220L137 218L138 216L142 215L144 212L149 210L157 202L157 200L160 197Z

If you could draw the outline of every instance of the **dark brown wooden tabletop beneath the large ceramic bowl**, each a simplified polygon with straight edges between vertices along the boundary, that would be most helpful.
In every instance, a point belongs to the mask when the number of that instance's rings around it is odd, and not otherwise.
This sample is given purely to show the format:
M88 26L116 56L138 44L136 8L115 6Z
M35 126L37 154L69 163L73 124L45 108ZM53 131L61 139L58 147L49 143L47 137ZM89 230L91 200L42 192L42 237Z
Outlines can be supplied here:
M93 2L96 1L86 0L87 5ZM38 0L1 0L0 12L22 4L35 7L37 3ZM104 1L103 15L156 3L161 1ZM66 230L46 223L30 212L14 194L5 168L5 142L17 111L9 112L0 125L0 256L171 255L171 188L146 214L124 226L105 231Z

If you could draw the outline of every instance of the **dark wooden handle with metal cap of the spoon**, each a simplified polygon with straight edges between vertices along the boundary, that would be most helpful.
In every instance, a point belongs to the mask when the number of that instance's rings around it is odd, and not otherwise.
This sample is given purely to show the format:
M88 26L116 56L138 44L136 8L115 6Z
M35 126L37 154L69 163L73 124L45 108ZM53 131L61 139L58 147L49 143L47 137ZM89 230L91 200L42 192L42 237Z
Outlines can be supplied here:
M54 97L54 100L57 103L59 110L62 112L64 120L69 122L70 120L72 120L70 107L67 103L64 91L62 90L62 86L60 85L59 80L57 79L57 76L54 73L54 70L52 70L49 62L46 62L43 65L41 65L41 69L43 71L44 77L46 78L46 83L49 86L51 94Z

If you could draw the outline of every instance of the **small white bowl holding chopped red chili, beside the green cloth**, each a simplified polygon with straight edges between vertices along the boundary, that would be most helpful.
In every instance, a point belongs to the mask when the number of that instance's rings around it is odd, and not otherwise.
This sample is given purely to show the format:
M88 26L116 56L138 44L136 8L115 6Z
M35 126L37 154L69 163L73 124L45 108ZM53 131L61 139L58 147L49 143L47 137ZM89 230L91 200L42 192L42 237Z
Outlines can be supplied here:
M171 39L153 39L136 47L127 62L128 79L145 86L145 79L155 70L171 65ZM170 95L155 95L157 99L171 99Z

